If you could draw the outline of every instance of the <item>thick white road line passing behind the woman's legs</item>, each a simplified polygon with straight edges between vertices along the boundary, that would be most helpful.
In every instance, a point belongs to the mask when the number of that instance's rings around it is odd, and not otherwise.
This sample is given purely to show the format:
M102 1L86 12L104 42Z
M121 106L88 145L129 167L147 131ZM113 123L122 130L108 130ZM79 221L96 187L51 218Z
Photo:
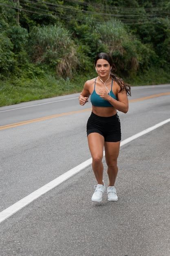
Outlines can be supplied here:
M170 122L170 118L166 119L165 121L160 122L159 124L156 124L155 126L149 127L146 130L138 132L137 134L129 137L128 139L124 139L123 141L121 141L120 146L123 146L123 145L129 143L130 141L132 141L134 139L137 139L140 136L142 136L142 135L144 135L144 134L146 134L146 133L148 133L152 130L155 130L156 128L158 128L160 126L163 126L164 124L167 124L168 122ZM105 155L105 152L104 152L104 155ZM41 195L43 195L46 192L50 191L51 189L55 188L56 186L58 186L59 184L61 184L62 182L64 182L68 178L70 178L71 176L75 175L79 171L83 170L84 168L86 168L90 164L92 164L92 158L86 160L82 164L79 164L79 165L75 166L73 169L67 171L66 173L64 173L62 175L60 175L56 179L54 179L51 182L47 183L46 185L42 186L40 189L35 190L30 195L27 195L25 198L22 198L20 201L11 205L10 207L8 207L7 209L5 209L4 211L2 211L0 213L0 222L9 218L15 212L19 211L20 209L22 209L27 204L29 204L29 203L33 202L35 199L39 198Z

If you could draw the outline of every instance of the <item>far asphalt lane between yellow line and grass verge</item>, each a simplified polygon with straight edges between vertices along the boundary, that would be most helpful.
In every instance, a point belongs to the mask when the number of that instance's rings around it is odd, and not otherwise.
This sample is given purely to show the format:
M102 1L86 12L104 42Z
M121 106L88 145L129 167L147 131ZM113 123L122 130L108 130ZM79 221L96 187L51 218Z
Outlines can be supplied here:
M129 99L137 99L162 92L169 92L170 85L150 85L132 87L132 96ZM0 126L27 121L30 119L46 117L64 112L82 110L78 105L79 94L29 101L16 105L0 108ZM91 108L90 101L83 107Z

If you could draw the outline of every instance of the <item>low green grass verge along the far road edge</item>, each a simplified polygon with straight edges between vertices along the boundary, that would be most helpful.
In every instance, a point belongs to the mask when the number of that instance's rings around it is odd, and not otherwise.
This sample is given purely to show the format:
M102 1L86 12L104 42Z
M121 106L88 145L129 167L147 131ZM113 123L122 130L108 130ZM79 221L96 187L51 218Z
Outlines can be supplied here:
M33 79L9 78L0 81L0 106L81 92L84 82L95 76L96 73L77 74L74 79L56 78L54 75L33 77ZM126 78L125 81L132 86L170 83L170 72L150 69L139 76Z

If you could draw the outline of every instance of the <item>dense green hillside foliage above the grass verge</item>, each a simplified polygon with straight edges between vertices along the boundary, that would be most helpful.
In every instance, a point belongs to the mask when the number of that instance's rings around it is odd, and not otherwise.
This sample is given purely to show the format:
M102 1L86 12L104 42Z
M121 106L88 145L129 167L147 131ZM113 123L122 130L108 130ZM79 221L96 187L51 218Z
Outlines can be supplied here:
M120 76L170 70L168 0L0 0L0 78L73 78L109 52Z

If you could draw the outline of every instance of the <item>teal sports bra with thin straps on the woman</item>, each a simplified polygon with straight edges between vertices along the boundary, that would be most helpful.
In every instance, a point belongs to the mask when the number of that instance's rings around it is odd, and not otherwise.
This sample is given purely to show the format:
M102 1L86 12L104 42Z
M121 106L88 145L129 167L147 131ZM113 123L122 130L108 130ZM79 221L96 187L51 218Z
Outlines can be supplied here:
M96 79L95 79L95 85L96 85ZM112 85L113 85L113 79L112 79ZM110 90L110 97L112 97L113 99L118 100L117 97L115 96L115 94L112 92L112 85L111 85L111 90ZM99 94L96 93L95 87L94 87L93 93L91 94L91 103L95 107L113 107L113 105L110 104L110 102L101 98L99 96Z

